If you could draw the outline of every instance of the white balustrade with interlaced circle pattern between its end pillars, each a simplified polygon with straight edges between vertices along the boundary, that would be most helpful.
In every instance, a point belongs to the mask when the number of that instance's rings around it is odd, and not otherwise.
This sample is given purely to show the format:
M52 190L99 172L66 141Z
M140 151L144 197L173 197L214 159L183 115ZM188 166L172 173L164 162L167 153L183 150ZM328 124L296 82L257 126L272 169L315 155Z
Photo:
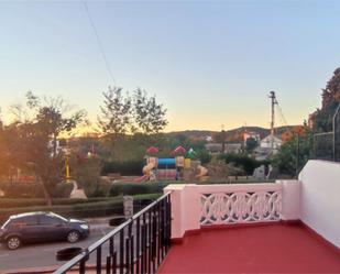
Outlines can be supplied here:
M276 184L168 185L172 238L202 226L299 219L299 182Z

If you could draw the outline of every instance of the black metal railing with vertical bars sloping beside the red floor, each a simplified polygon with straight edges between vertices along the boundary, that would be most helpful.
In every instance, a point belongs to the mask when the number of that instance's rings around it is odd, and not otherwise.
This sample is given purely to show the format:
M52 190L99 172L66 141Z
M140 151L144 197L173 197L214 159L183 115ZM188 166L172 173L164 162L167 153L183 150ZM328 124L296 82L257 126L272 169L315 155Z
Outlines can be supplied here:
M54 274L68 271L97 274L155 273L171 248L171 195L163 195L114 228Z

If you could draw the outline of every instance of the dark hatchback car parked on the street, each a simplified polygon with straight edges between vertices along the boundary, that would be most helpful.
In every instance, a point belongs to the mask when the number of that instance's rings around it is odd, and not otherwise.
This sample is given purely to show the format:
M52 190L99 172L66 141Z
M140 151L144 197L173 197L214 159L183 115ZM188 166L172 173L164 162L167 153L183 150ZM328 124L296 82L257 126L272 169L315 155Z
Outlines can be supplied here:
M0 242L10 250L22 243L67 240L77 242L89 234L86 221L66 219L53 212L28 212L11 216L0 229Z

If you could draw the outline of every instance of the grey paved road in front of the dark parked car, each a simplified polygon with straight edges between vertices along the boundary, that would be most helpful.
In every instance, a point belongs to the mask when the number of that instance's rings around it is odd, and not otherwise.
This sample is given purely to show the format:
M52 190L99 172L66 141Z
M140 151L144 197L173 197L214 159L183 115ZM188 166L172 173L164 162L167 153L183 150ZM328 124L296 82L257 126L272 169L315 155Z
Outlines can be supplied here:
M19 250L9 251L6 246L0 245L0 273L7 273L9 270L18 270L24 267L40 267L51 265L62 265L64 262L58 262L55 259L56 251L69 246L87 248L112 228L102 227L96 231L91 231L90 235L77 243L53 242L23 245ZM103 246L102 253L106 254L108 246Z

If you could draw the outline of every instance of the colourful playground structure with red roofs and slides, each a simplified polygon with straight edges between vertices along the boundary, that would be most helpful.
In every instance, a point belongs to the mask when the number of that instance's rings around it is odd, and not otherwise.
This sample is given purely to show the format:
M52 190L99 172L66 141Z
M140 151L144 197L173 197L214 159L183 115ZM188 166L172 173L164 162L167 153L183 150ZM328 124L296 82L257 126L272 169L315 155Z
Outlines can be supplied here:
M200 161L190 158L195 153L193 149L186 153L183 146L178 146L172 151L171 154L173 157L168 158L156 157L154 154L157 152L158 149L155 146L146 150L146 164L143 167L144 176L139 178L138 182L172 179L202 180L207 177L208 169L200 164Z

